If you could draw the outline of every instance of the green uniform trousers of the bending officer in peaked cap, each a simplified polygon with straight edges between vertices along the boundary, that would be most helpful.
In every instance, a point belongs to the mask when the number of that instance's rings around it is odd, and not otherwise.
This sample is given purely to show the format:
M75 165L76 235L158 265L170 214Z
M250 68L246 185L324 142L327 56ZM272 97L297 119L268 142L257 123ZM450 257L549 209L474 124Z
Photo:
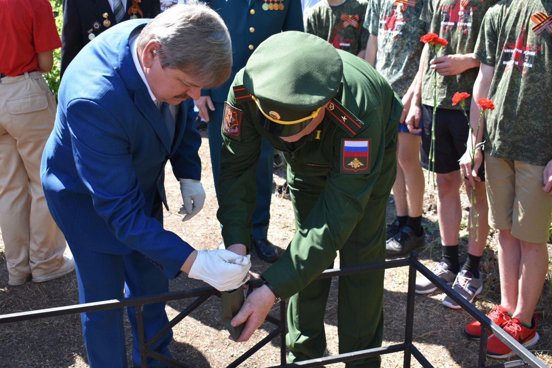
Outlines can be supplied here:
M341 267L385 260L385 209L396 176L395 142L396 138L386 147L380 176L364 216L339 250ZM297 175L288 166L288 185L295 211L295 227L298 229L318 201L326 185L326 177ZM333 262L328 265L328 268L332 267ZM383 280L383 270L339 276L339 354L381 346ZM286 345L290 350L288 362L323 356L326 349L323 320L330 284L331 279L314 280L290 298L286 336ZM380 362L381 359L376 356L348 361L346 367L379 367Z

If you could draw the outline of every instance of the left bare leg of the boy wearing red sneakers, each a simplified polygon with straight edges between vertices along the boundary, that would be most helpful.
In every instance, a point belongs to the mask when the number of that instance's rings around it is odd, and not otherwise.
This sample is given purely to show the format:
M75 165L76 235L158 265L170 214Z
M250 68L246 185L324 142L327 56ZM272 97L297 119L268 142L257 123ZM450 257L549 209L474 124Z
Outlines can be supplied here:
M546 260L548 262L548 256ZM501 304L510 313L514 313L517 309L520 262L521 244L519 240L512 236L511 230L499 230L498 270L500 271Z

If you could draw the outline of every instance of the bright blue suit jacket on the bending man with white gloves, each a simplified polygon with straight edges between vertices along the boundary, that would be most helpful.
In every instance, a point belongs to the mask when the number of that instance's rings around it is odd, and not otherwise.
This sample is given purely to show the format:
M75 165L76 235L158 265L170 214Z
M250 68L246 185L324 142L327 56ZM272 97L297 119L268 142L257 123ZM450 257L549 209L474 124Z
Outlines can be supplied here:
M193 248L163 229L164 166L170 159L177 178L200 179L201 138L189 99L170 141L136 71L129 35L147 22L128 20L104 31L68 66L41 177L68 241L101 253L138 250L174 278Z

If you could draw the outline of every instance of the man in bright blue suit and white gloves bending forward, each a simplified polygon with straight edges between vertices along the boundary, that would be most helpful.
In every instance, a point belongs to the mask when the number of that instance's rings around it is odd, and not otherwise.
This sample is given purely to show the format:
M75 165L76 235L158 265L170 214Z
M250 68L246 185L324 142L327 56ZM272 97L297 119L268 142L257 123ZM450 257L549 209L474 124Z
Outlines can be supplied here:
M192 4L115 25L68 66L41 178L75 258L81 303L167 292L168 278L181 271L219 290L247 280L248 257L194 250L162 225L168 160L181 182L184 220L203 206L201 140L190 97L224 82L231 63L224 22ZM164 305L144 306L146 340L168 322ZM127 313L138 367L135 308ZM90 366L126 367L122 309L82 313L81 320ZM152 348L170 356L171 339L169 331ZM150 368L166 366L148 360Z

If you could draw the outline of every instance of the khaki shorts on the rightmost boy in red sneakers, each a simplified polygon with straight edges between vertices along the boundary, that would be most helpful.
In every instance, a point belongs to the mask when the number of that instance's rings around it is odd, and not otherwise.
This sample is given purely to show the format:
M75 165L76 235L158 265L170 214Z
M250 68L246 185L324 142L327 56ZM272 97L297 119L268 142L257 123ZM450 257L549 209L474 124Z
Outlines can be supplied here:
M552 220L552 195L544 193L544 166L485 154L489 225L512 236L546 243Z

